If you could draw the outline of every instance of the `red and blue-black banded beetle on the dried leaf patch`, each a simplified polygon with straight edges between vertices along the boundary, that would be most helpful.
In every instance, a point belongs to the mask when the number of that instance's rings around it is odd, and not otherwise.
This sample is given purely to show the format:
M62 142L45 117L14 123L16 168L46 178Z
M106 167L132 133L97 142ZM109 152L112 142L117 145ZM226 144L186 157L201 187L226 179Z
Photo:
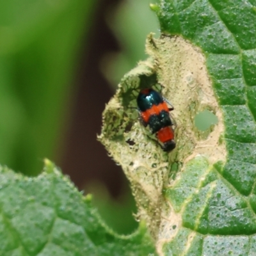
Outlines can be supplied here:
M143 89L137 97L140 121L145 127L150 128L152 134L156 134L157 140L164 151L170 152L175 148L172 120L166 100L152 88Z

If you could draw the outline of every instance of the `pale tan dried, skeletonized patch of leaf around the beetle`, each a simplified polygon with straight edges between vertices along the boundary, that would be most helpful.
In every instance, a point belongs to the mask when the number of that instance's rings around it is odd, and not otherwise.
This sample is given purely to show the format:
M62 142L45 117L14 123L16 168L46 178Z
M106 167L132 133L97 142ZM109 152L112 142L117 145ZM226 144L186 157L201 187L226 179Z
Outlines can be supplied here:
M203 155L209 159L209 164L213 164L216 161L225 162L227 153L225 143L220 143L224 132L223 116L202 52L180 37L161 36L154 39L152 35L148 36L146 51L150 58L124 76L115 97L106 106L99 140L110 156L121 164L131 182L138 205L136 218L147 222L150 233L156 239L157 252L162 255L163 244L175 237L182 224L180 213L176 213L170 202L163 198L163 188L173 186L186 168L186 163L196 156ZM164 86L164 97L175 108L171 115L176 123L177 147L170 154L164 153L157 143L148 140L147 132L139 122L134 122L131 131L124 132L132 110L123 108L122 93L127 86L138 88L140 74L149 76L153 73L157 74L159 83ZM196 113L204 109L218 116L218 124L209 131L200 132L195 127L194 118ZM120 132L122 139L113 140L116 132ZM127 140L134 141L134 145L129 145L125 142ZM174 162L182 163L182 168L175 179L168 179ZM192 235L188 243L193 241Z

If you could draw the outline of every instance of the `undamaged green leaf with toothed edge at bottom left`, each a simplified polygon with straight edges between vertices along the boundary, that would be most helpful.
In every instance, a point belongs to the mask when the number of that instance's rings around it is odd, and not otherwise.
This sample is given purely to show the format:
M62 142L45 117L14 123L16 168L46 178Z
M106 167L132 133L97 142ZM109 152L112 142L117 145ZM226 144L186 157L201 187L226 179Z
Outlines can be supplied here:
M0 168L0 255L147 255L145 225L118 236L54 164L29 178Z

